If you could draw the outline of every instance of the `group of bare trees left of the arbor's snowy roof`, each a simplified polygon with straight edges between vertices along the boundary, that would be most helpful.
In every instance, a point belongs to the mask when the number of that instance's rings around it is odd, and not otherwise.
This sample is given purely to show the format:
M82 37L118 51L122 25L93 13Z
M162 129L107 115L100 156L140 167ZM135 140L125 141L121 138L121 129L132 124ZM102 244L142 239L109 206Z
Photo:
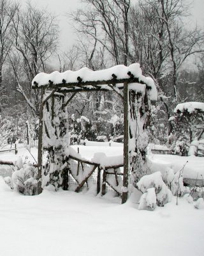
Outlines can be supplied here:
M38 113L38 92L31 90L31 81L38 72L48 72L48 60L57 49L59 28L55 17L27 3L23 9L11 0L0 0L0 99L11 95L10 90L20 93L31 108ZM3 79L3 73L10 72ZM14 78L14 81L13 81ZM7 88L6 88L7 89ZM15 102L17 103L17 93Z

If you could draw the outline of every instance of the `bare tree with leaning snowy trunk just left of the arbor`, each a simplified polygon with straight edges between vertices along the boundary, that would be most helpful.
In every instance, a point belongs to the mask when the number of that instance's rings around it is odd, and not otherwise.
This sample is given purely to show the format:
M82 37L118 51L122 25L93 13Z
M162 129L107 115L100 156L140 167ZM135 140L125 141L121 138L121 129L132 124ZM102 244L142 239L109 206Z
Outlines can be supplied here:
M13 19L13 40L15 49L20 56L20 65L27 83L21 84L19 68L16 59L17 54L10 54L10 62L17 80L17 90L31 107L34 114L38 113L38 92L31 89L31 82L38 72L47 72L47 61L57 48L59 29L55 17L28 3L25 10L18 9ZM19 62L19 61L18 61ZM19 65L19 63L18 63ZM26 88L25 88L26 87Z

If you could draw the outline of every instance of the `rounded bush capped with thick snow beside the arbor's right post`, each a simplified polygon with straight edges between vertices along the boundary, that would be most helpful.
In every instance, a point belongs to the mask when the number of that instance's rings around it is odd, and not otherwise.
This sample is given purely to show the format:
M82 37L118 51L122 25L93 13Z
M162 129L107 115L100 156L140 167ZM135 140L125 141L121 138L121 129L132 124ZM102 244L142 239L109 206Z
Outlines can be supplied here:
M171 201L172 193L164 183L161 172L143 176L136 186L144 193L140 198L139 209L154 209L156 204L164 206Z

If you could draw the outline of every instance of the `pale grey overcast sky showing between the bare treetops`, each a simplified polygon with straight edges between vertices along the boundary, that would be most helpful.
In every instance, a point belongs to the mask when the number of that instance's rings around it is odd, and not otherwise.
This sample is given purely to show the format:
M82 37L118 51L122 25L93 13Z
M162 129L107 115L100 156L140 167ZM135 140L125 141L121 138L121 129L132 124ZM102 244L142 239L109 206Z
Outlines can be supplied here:
M20 0L22 4L25 4L25 0ZM133 0L136 1L136 0ZM49 11L57 15L59 20L60 42L62 51L66 51L74 42L75 36L73 30L68 23L66 12L76 10L80 7L80 0L31 0L31 3L35 3L39 8L47 8ZM204 28L204 0L193 1L193 18L191 22L198 21L198 24Z

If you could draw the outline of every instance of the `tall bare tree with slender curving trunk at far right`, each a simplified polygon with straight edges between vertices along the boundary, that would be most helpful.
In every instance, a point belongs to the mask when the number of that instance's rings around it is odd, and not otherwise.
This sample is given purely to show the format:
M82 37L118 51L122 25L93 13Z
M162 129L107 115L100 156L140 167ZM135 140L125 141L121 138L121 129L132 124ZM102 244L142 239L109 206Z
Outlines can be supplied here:
M204 51L204 33L197 26L186 28L183 17L189 15L184 0L143 0L153 10L153 20L163 24L168 45L169 60L172 74L173 95L176 102L180 100L178 91L179 69L186 59L198 52Z

